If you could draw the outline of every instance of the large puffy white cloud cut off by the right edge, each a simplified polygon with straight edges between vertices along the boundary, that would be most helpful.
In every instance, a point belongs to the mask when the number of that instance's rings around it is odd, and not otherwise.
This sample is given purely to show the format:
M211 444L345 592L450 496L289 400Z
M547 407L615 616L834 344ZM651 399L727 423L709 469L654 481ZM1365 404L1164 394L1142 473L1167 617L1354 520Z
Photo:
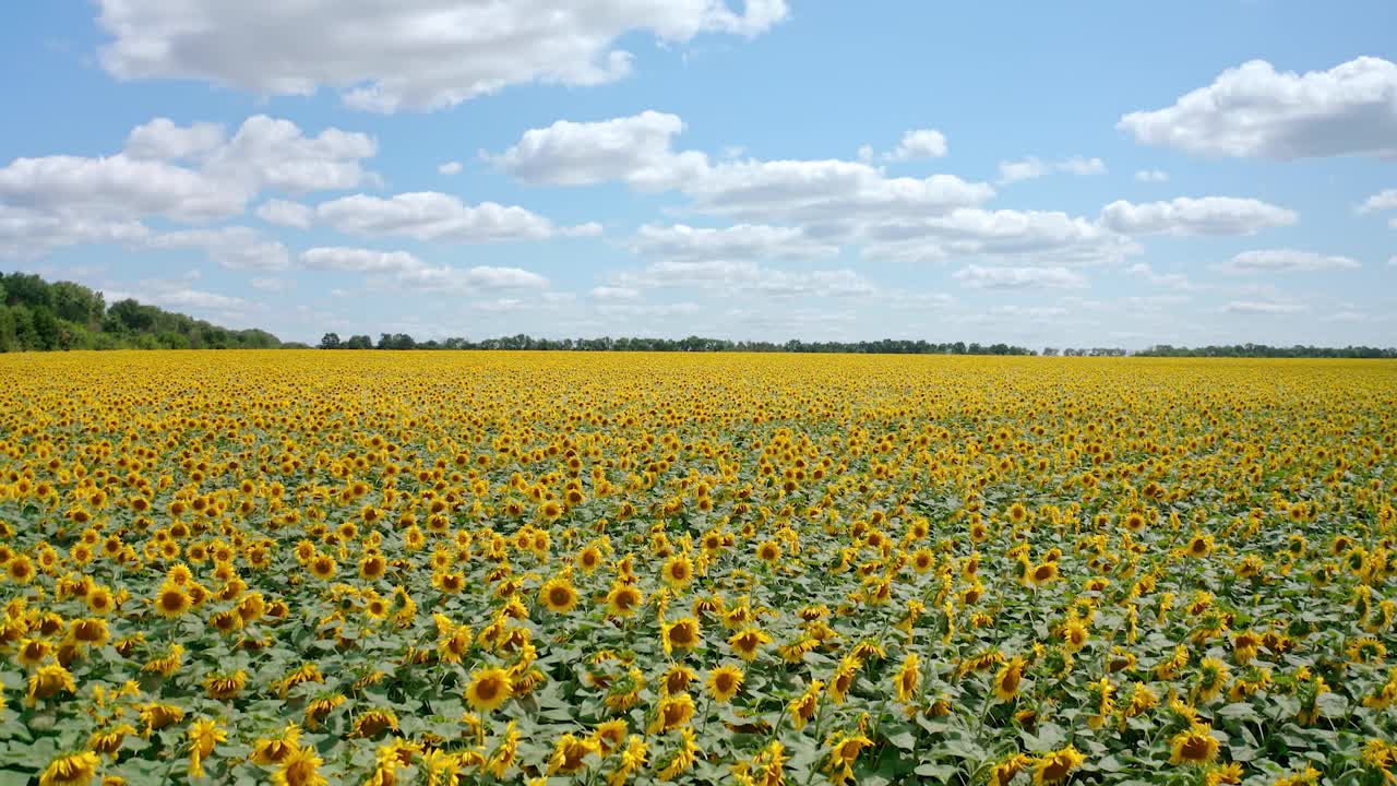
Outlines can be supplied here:
M1295 159L1397 155L1397 64L1358 57L1327 71L1250 60L1172 106L1132 112L1120 130L1199 155Z

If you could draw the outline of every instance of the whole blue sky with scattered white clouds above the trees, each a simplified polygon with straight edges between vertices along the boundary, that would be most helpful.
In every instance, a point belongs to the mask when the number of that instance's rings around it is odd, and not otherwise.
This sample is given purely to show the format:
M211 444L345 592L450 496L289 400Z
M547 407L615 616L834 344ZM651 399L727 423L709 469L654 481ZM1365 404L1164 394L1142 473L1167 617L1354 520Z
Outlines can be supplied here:
M109 302L306 341L1397 344L1391 3L4 17L0 267Z

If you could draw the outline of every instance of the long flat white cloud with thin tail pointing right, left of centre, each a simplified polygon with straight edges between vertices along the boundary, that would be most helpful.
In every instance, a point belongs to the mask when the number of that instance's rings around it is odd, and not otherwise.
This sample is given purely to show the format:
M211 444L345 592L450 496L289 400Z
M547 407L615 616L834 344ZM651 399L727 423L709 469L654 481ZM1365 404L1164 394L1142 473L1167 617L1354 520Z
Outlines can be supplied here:
M388 199L353 194L316 207L316 217L349 235L402 235L418 241L493 243L538 241L556 235L597 235L601 227L557 228L522 207L493 201L467 206L439 192L415 192Z

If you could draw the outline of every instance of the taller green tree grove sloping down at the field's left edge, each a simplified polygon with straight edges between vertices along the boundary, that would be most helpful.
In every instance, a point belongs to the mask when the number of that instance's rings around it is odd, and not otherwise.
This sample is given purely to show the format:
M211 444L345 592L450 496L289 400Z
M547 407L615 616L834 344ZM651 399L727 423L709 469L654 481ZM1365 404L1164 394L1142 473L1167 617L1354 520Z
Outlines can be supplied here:
M229 330L131 298L108 305L102 292L73 281L0 273L0 352L275 347L285 344L265 330Z

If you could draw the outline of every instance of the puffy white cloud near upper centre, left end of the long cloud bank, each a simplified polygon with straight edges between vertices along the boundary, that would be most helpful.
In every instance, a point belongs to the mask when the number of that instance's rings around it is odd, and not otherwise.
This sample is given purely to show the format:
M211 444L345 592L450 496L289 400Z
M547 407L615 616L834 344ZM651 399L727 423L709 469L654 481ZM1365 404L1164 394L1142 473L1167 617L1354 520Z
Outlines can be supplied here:
M595 123L559 120L529 129L514 147L485 158L525 183L624 180L640 190L664 190L708 169L707 155L672 150L671 138L683 127L678 115L654 110Z

